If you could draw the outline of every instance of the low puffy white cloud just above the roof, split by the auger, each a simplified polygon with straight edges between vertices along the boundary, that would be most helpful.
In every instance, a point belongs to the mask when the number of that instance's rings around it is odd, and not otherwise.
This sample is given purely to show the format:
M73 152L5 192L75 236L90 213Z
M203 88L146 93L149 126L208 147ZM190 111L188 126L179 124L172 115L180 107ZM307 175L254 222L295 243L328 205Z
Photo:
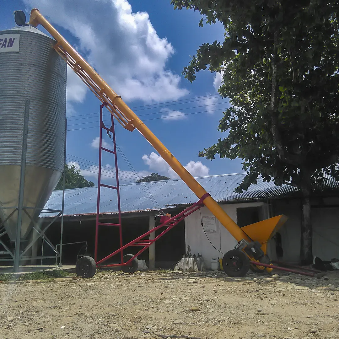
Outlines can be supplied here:
M173 171L167 162L152 152L150 155L143 155L142 160L149 167L149 170L156 172L162 175L166 175L172 179L179 178L179 176ZM209 168L201 163L201 161L190 161L185 168L190 172L194 177L204 177L208 175Z

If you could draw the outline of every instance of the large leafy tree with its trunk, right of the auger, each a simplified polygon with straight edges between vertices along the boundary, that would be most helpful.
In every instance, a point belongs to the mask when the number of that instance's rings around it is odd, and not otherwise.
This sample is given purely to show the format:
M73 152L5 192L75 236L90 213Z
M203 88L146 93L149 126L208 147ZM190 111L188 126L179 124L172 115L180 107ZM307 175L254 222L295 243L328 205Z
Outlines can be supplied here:
M330 174L339 178L338 1L172 0L174 8L220 21L222 43L204 43L182 72L190 82L208 67L232 106L218 129L225 137L200 157L243 159L237 192L262 176L298 187L302 196L300 261L312 255L310 194Z

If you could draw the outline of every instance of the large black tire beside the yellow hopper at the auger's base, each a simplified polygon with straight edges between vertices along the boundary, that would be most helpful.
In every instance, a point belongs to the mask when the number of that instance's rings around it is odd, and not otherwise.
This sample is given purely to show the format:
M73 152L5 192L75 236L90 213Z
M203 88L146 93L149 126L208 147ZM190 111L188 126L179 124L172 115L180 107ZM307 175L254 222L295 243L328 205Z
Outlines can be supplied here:
M222 258L222 268L229 277L244 277L250 269L250 259L240 250L231 250Z

